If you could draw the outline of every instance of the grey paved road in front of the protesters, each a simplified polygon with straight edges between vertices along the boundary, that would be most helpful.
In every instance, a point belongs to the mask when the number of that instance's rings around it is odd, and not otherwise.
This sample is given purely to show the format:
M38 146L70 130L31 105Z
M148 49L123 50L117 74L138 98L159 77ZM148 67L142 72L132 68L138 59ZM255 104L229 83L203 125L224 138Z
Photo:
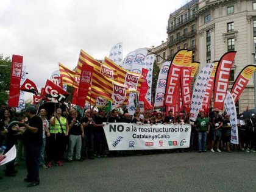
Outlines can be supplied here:
M0 191L256 191L256 153L172 153L107 157L40 169L26 188L24 165ZM2 168L1 168L2 169Z

